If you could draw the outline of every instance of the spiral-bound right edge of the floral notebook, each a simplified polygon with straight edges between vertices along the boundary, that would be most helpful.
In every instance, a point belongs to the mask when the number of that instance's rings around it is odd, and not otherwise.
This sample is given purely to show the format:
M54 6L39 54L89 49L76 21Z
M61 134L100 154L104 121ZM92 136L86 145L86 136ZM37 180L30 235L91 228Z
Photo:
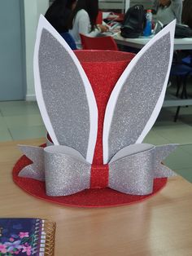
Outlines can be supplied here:
M48 219L37 218L33 240L33 255L54 256L56 223Z

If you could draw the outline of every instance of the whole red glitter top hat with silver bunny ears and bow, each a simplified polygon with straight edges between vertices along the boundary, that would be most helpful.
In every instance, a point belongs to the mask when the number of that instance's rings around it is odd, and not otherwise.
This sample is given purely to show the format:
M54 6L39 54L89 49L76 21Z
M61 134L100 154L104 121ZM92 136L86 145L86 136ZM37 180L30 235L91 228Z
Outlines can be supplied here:
M15 183L47 201L91 207L141 201L163 188L174 172L161 161L177 145L154 146L142 140L164 102L175 24L168 24L133 58L118 51L74 53L41 15L35 90L53 143L44 148L20 145L28 158L15 165ZM117 64L124 55L128 65L121 64L119 71L116 66L119 77L107 92L110 77L116 77L108 73L108 79L103 78L110 70L102 65L108 55ZM86 65L90 56L93 61Z

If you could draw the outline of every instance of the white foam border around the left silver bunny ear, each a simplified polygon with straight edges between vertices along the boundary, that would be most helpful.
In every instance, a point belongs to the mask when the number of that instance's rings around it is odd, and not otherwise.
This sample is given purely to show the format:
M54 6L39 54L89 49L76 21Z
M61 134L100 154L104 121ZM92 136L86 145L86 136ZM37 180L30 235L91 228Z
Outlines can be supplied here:
M52 36L65 48L65 50L68 51L68 55L71 56L84 83L85 92L86 92L88 104L89 104L89 120L90 120L89 142L88 142L88 148L87 148L86 161L88 161L89 163L92 163L93 157L94 157L94 148L95 148L97 133L98 133L98 107L96 104L96 99L94 97L94 92L89 83L88 77L85 74L84 69L82 68L79 60L76 58L76 55L68 46L68 43L64 41L64 39L50 25L50 23L46 20L46 18L43 15L40 15L40 19L37 27L37 39L35 43L35 50L34 50L34 57L33 57L35 92L36 92L37 104L40 109L41 117L46 126L46 130L49 132L50 137L53 140L53 143L55 143L56 145L59 145L57 135L55 135L55 131L50 122L50 117L46 111L46 104L44 102L42 90L41 90L41 79L40 79L39 64L38 64L38 52L39 52L39 46L41 42L42 29L46 29L47 31L49 31L52 34Z

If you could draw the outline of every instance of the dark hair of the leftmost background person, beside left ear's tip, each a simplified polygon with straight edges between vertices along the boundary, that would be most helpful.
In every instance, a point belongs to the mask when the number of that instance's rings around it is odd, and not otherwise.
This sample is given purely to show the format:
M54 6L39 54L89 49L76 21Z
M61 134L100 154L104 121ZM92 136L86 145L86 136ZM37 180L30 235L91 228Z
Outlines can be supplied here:
M72 4L76 0L55 0L46 11L46 20L59 32L68 31L68 20L72 13Z

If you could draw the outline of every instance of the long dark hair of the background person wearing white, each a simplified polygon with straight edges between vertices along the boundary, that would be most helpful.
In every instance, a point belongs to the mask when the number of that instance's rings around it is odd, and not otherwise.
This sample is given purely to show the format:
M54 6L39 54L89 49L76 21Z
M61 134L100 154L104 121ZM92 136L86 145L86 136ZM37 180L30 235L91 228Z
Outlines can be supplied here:
M78 0L69 20L69 28L72 29L73 20L76 18L76 13L82 9L87 11L91 24L91 30L94 30L98 16L98 0Z

